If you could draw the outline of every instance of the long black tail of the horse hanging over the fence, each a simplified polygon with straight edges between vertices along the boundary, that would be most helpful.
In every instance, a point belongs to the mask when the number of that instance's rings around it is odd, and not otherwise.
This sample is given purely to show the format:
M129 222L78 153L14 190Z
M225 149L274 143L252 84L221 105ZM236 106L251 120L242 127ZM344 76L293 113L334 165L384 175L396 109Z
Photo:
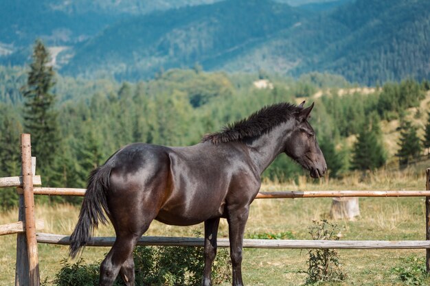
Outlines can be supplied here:
M80 249L87 244L99 222L102 224L107 222L106 215L109 215L109 208L106 202L106 191L109 189L111 169L105 164L91 171L78 224L70 236L69 256L72 258L76 257Z

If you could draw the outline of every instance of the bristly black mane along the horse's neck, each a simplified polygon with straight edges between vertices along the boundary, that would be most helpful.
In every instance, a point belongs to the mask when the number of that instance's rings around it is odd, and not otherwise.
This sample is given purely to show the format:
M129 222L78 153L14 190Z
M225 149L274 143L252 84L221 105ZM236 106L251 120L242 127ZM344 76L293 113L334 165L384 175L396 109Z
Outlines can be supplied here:
M302 107L286 102L264 106L247 119L230 123L219 132L206 134L202 142L210 141L216 144L258 137L286 122L294 112L299 110L302 110Z

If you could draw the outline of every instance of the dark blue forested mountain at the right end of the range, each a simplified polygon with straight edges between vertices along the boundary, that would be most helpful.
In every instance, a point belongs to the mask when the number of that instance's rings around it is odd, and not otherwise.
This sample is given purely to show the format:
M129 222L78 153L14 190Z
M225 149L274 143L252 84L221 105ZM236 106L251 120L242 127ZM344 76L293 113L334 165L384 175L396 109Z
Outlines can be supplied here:
M357 1L331 16L348 34L321 53L319 70L365 83L430 78L430 1Z

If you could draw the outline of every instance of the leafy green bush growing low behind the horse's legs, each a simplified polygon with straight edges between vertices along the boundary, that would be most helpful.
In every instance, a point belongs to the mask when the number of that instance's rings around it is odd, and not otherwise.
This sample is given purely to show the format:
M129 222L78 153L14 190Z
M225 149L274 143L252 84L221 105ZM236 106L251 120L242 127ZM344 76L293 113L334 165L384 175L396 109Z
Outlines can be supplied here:
M201 284L204 259L203 249L179 246L137 246L133 253L135 258L136 285L151 286L196 286ZM56 274L56 286L93 286L98 285L101 261L85 264L84 259L69 263L61 261L63 266ZM231 263L229 252L225 248L218 250L212 266L214 285L230 280ZM47 282L43 285L48 285ZM118 276L114 286L124 285Z

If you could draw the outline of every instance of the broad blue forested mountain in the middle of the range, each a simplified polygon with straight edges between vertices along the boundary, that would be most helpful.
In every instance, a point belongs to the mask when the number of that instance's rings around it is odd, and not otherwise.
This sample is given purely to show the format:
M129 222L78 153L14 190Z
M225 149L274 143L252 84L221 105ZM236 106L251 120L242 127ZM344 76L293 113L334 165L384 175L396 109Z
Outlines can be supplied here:
M264 0L222 1L120 21L76 49L66 73L147 78L161 68L211 69L264 43L302 19L289 5ZM91 66L88 66L91 62Z

